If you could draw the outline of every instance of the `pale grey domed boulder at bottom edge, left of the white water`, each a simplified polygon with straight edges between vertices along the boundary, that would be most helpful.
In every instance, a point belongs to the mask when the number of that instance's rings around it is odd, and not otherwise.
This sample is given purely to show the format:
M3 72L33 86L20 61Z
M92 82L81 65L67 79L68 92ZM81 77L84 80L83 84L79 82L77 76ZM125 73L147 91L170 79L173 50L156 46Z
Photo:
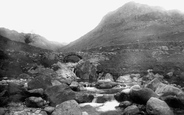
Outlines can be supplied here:
M82 111L75 100L69 100L59 104L51 115L82 115Z

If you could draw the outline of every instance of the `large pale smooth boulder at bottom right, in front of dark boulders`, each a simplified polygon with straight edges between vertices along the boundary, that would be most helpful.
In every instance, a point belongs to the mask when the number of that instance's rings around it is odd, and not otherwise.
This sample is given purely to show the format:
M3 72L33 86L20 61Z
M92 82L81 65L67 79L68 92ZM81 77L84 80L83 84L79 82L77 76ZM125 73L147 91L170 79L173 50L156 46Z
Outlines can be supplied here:
M151 115L174 115L169 106L162 100L151 97L146 104L146 111Z

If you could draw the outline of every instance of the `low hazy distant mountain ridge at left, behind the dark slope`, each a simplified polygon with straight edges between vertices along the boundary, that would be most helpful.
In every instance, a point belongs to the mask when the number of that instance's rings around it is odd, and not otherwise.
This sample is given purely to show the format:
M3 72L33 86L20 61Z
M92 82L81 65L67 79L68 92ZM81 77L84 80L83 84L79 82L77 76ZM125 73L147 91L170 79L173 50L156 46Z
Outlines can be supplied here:
M15 30L9 30L6 28L0 28L0 35L21 43L26 43L31 46L39 47L42 49L48 49L56 51L57 49L64 46L62 43L48 41L46 38L38 35L38 34L31 34L31 33L19 33Z

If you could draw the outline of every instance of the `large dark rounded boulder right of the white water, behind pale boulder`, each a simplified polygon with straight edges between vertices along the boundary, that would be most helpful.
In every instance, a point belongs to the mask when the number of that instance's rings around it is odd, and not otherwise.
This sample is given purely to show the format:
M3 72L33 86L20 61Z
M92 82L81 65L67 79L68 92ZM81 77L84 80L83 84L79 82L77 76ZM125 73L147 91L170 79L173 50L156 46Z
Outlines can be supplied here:
M158 95L149 88L134 88L130 90L130 99L137 104L146 104L151 97L158 98Z

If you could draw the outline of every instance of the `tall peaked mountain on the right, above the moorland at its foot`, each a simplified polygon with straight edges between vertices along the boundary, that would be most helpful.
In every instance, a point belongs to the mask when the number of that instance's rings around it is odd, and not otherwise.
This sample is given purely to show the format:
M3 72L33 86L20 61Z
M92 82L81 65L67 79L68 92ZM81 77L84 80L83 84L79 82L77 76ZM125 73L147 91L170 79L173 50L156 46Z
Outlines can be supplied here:
M61 51L79 51L129 43L183 40L184 15L129 2L108 13L99 25ZM173 38L174 36L178 36Z

